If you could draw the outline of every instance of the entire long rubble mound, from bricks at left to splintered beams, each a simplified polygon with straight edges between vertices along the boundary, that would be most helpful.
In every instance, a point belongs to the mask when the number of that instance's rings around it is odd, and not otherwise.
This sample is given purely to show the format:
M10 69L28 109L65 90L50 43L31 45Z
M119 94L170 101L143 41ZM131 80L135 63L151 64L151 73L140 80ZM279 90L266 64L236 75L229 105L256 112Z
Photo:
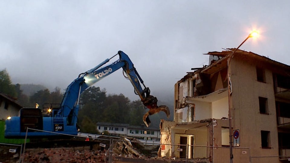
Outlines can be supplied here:
M104 145L100 146L100 143ZM83 162L120 162L121 158L128 159L157 159L157 150L159 146L144 145L138 139L130 137L121 137L119 140L110 141L102 140L98 144L83 147L70 148L33 148L26 149L21 155L21 162L66 162L66 163L83 163ZM19 162L19 155L14 157L14 154L6 151L6 158L0 155L0 162ZM10 154L10 155L8 155ZM4 155L3 155L4 156ZM122 161L121 161L122 162ZM132 160L129 160L132 162Z

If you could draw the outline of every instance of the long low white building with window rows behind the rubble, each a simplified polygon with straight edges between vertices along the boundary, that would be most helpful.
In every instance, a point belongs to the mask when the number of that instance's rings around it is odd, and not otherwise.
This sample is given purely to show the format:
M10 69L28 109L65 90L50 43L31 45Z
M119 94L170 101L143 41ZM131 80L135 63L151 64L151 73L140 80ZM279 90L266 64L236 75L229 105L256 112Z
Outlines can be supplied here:
M160 140L160 129L153 127L132 126L125 123L98 122L97 129L100 133L107 131L112 136L130 136L144 140Z

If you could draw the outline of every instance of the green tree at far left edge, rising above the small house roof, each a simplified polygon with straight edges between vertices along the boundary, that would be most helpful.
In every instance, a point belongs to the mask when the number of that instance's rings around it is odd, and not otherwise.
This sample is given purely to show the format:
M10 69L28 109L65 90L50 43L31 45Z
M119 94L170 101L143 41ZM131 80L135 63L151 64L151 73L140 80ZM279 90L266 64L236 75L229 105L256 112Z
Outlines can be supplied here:
M12 84L10 76L6 69L0 71L0 93L8 94L9 96L14 98L17 97L15 85Z

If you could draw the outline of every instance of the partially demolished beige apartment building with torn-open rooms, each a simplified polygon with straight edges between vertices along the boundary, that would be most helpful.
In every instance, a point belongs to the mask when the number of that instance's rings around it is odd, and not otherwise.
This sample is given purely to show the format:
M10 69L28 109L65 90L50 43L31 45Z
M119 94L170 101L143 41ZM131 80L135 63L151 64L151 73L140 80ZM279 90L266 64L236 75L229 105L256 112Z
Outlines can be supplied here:
M174 121L161 120L161 157L282 162L290 155L290 66L235 49L209 52L209 64L175 84ZM230 74L230 98L228 75Z

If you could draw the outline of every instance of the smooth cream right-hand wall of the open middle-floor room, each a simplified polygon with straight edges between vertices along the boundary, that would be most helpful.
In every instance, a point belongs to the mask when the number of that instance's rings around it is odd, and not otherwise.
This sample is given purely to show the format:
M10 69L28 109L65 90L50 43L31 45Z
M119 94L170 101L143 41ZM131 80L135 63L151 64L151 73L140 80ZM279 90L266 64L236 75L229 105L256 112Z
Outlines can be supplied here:
M224 97L220 100L212 102L212 116L214 119L221 119L222 117L228 117L229 103L228 97Z

